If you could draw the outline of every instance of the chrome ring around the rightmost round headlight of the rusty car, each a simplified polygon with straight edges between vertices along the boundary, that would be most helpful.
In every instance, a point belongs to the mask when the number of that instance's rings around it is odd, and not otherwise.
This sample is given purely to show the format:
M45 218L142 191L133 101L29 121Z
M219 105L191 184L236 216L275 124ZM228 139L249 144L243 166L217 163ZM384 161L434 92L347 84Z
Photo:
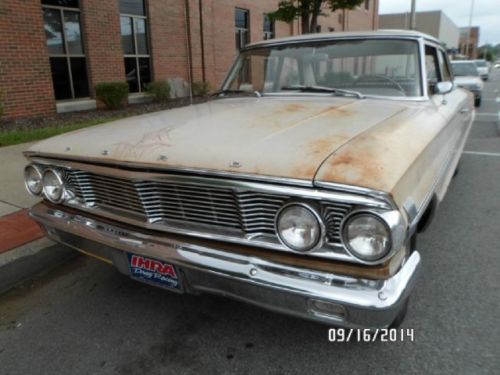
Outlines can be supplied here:
M383 262L385 259L389 258L394 252L394 246L395 246L395 243L397 241L394 238L393 225L391 225L384 218L384 214L386 214L386 213L379 213L379 212L371 211L371 210L363 210L363 209L354 210L351 213L349 213L348 215L346 215L340 224L340 234L341 234L340 239L341 239L342 245L344 246L344 248L346 249L347 253L350 256L352 256L353 258L355 258L356 260L360 261L363 264L367 264L367 265L379 264L379 263ZM377 256L377 257L370 257L370 258L363 257L363 256L359 255L359 253L356 250L352 249L352 247L350 246L349 241L347 240L348 225L354 219L359 218L361 216L368 216L368 217L375 218L385 227L387 234L388 234L389 245L387 246L385 252L382 255Z

